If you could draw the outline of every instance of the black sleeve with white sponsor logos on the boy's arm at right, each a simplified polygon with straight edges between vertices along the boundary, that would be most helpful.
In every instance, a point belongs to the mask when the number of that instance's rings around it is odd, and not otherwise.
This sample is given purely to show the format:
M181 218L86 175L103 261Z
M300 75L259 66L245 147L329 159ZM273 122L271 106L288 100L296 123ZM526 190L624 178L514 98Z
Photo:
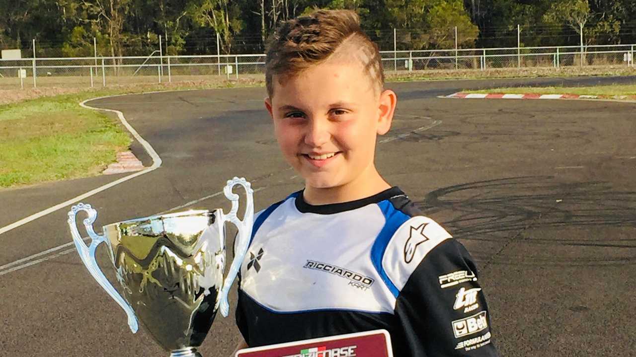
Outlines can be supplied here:
M395 314L403 327L392 335L397 356L498 356L476 267L455 239L424 257L399 293Z

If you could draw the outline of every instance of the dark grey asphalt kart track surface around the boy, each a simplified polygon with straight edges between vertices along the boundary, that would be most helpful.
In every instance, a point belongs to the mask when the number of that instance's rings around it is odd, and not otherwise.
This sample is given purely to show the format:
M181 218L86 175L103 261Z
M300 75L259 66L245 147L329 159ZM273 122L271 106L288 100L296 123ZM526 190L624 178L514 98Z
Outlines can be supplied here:
M388 85L399 102L377 166L476 258L502 356L636 355L636 104L437 96L635 82ZM264 95L245 88L90 102L122 111L163 159L161 168L84 200L99 210L97 231L211 196L233 176L251 180L257 209L300 189L273 140ZM133 149L151 164L139 145ZM0 191L0 227L123 176ZM222 195L193 206L229 208ZM167 355L142 329L130 333L123 311L76 253L64 248L15 263L71 241L67 211L0 234L0 356ZM201 351L228 356L238 338L233 316L219 314Z

